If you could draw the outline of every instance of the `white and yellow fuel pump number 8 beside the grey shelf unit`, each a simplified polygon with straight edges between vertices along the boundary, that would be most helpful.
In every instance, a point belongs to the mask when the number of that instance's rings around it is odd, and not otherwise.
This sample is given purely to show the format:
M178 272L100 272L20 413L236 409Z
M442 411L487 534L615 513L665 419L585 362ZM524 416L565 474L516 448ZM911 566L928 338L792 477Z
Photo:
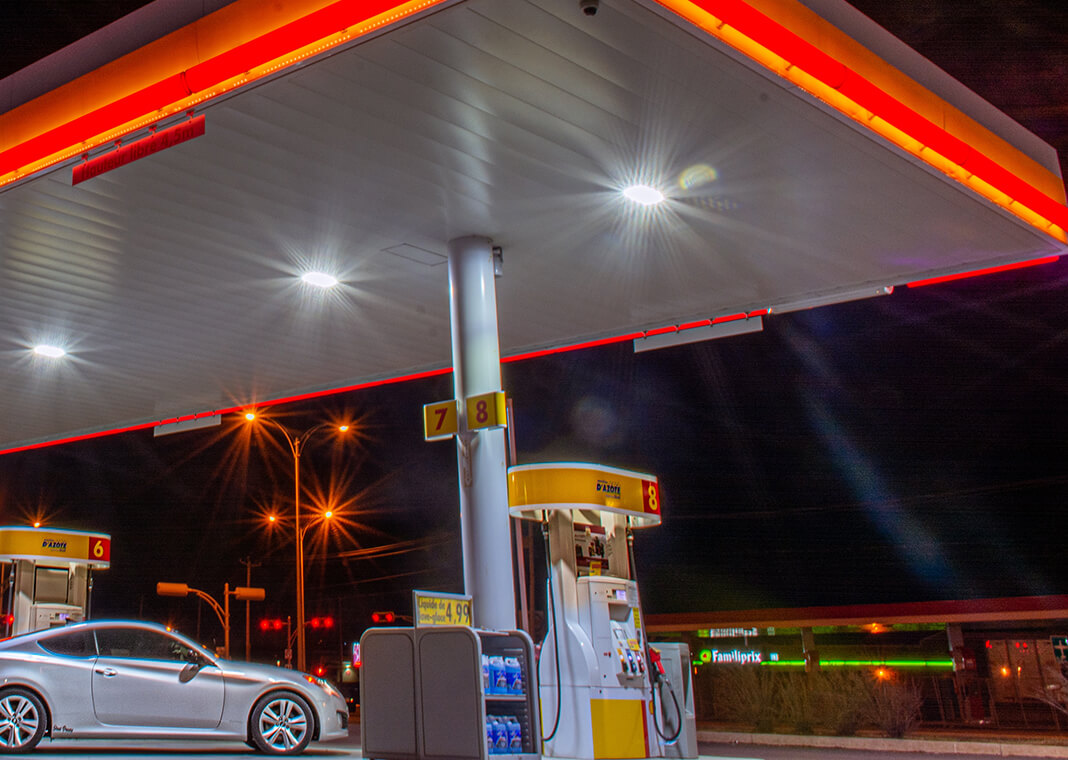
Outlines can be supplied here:
M657 478L597 464L517 465L508 504L514 517L541 522L548 540L545 755L662 757L629 542L631 528L660 523Z

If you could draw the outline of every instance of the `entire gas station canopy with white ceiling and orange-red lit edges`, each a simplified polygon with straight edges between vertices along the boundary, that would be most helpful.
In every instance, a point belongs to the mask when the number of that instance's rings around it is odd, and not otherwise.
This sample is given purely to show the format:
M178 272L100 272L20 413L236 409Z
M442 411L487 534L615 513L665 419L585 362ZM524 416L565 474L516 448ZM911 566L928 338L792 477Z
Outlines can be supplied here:
M1064 201L839 0L157 0L0 81L0 452L447 370L460 236L515 358L1058 256Z

